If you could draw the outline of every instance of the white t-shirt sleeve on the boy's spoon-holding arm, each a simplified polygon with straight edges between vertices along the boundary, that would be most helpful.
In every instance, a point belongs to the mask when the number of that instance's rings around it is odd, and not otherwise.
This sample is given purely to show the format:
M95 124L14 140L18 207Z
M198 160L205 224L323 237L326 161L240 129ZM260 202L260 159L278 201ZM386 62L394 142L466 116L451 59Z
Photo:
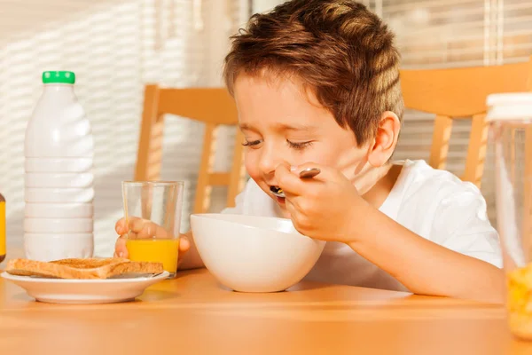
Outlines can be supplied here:
M486 201L476 186L460 183L444 193L434 213L430 239L445 248L502 267L495 228L489 223Z

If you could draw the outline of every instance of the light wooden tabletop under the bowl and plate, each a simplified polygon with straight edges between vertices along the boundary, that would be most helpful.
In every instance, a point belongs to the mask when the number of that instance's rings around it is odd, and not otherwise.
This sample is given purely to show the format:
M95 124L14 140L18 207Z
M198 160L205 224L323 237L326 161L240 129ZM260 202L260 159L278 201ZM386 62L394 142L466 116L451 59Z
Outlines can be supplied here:
M180 272L135 302L42 304L0 279L4 354L532 354L502 307L303 281L287 292Z

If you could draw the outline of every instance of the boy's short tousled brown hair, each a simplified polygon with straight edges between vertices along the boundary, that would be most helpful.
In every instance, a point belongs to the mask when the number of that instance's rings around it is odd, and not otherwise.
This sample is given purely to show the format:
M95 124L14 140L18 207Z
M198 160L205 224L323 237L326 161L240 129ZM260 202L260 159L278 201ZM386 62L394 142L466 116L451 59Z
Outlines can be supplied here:
M288 1L254 14L231 39L223 70L231 95L241 73L295 76L359 145L374 137L383 112L402 119L394 34L363 4Z

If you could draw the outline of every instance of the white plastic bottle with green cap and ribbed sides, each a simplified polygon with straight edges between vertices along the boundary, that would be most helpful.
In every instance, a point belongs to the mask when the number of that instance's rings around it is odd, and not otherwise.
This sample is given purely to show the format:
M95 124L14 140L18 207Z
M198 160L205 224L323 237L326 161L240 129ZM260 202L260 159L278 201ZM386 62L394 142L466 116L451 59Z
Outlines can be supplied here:
M94 139L74 83L73 72L44 72L43 94L27 123L24 249L29 259L93 253Z

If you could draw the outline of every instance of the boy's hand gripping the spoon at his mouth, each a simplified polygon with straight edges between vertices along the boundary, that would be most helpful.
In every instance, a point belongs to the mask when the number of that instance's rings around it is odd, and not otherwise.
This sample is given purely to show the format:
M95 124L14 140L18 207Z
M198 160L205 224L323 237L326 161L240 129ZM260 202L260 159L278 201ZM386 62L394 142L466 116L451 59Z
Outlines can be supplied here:
M321 172L302 179L299 172L318 168ZM310 238L323 241L353 241L356 223L364 221L369 204L340 171L315 163L290 168L279 165L278 185L286 195L286 209L295 228Z

